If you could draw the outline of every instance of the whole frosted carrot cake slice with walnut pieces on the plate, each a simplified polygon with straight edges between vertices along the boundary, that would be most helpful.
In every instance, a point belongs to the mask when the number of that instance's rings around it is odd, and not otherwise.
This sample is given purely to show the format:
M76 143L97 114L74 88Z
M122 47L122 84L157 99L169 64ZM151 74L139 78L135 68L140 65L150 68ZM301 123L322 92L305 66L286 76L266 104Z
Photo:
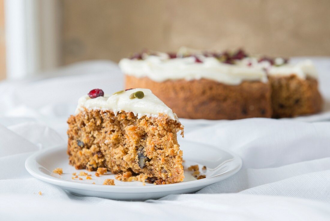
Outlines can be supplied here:
M68 119L69 163L76 169L121 181L170 184L183 181L177 116L149 89L112 95L92 90Z

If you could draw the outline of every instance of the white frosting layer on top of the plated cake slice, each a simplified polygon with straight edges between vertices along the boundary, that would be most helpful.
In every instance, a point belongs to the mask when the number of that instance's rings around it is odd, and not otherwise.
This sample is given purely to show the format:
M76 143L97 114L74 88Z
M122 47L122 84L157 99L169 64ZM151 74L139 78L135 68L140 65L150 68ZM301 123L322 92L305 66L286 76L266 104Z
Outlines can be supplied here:
M130 99L129 96L137 91L143 91L142 99ZM107 95L104 97L90 98L88 95L82 96L78 100L76 114L87 108L89 110L111 110L115 113L121 111L133 112L135 116L157 117L159 114L165 114L169 119L178 120L173 111L167 107L159 98L157 98L149 89L135 88L127 90L119 94Z

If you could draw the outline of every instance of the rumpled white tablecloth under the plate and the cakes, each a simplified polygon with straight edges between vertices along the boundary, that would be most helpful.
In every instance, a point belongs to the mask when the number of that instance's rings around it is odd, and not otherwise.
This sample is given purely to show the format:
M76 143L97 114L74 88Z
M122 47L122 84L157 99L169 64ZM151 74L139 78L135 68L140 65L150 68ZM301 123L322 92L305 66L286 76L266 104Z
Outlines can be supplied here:
M330 59L315 62L330 100ZM0 83L0 220L330 220L330 122L182 120L184 139L243 159L236 175L195 194L146 202L77 197L29 175L26 157L66 143L77 99L93 88L120 90L122 79L115 64L98 61Z

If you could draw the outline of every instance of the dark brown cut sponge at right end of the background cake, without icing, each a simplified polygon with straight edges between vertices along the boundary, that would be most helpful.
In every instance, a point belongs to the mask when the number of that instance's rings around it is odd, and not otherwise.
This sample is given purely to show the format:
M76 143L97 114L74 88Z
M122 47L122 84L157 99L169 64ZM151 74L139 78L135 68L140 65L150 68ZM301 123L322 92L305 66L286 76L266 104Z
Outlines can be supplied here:
M293 117L321 111L322 97L317 80L296 75L270 76L273 117Z

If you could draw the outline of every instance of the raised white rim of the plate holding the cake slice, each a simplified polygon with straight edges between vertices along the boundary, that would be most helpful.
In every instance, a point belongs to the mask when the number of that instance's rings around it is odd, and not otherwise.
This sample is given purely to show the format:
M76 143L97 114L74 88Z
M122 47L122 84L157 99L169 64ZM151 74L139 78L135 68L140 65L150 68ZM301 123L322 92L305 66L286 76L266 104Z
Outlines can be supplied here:
M194 144L201 144L203 146L208 146L211 148L219 149L223 152L229 153L233 156L233 160L237 162L237 166L225 173L218 174L215 176L207 177L205 179L200 180L193 180L193 181L187 181L187 182L180 182L180 183L173 183L173 184L165 184L165 185L153 185L153 186L109 186L107 185L91 185L89 183L79 183L79 182L73 182L70 180L63 180L57 177L52 177L47 174L43 174L40 171L36 171L33 169L33 164L38 163L36 161L36 157L42 154L45 154L47 152L55 152L60 149L65 150L65 145L56 146L53 148L46 148L43 150L39 150L32 155L30 155L25 160L25 168L27 172L32 175L33 177L42 180L44 182L63 187L63 188L72 188L77 190L84 190L84 191L95 191L95 192L107 192L107 193L153 193L153 192L160 192L160 191L171 191L171 190L182 190L182 189L192 189L197 187L205 187L211 184L214 184L216 182L219 182L221 180L227 179L228 177L236 174L243 166L243 161L241 157L228 150L224 150L222 148L218 148L213 145L205 144L205 143L199 143L199 142L192 142L192 141L181 141L181 143L194 143Z

